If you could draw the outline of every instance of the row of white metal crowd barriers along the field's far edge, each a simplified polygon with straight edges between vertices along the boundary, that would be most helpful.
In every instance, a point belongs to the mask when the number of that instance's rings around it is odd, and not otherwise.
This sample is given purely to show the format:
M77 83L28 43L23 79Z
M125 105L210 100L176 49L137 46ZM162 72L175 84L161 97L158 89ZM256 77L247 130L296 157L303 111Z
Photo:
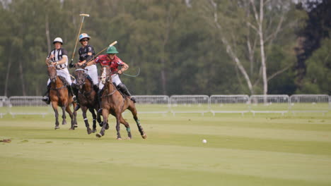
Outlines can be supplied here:
M325 94L288 95L139 95L139 113L323 113L331 111L331 96ZM16 115L54 114L42 97L0 97L0 118Z

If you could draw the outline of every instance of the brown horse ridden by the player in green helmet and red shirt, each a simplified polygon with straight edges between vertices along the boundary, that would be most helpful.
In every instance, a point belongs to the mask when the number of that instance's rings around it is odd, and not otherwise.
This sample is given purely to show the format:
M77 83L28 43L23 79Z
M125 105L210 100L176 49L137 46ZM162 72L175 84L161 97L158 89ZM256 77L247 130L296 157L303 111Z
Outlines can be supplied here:
M111 113L112 116L116 118L116 130L117 130L117 140L121 140L120 135L120 123L125 125L127 128L127 135L128 139L132 138L131 130L129 123L127 123L124 118L122 118L122 113L129 109L132 112L133 118L137 123L140 135L142 138L146 139L146 133L144 132L143 128L140 125L139 119L137 117L137 109L134 102L129 99L128 97L124 97L112 84L112 77L111 77L110 67L103 66L103 73L101 75L101 80L105 85L102 96L102 104L101 107L103 108L103 128L101 128L100 132L96 134L97 137L102 137L105 135L105 129L109 128L108 125L108 115Z

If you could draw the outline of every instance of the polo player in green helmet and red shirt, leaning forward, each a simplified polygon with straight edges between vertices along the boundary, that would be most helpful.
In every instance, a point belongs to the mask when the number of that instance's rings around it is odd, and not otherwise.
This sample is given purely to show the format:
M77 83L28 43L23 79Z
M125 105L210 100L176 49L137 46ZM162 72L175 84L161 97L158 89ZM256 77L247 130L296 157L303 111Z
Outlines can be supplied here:
M88 63L88 65L94 64L94 63L100 63L100 66L110 66L110 70L112 73L112 83L114 83L117 87L117 89L120 90L125 96L129 97L134 103L136 103L136 100L132 95L130 94L127 87L121 82L120 76L118 74L122 74L125 70L129 68L127 63L124 63L119 57L116 56L118 54L118 51L115 46L109 46L107 49L107 54L100 55L97 58L95 58L94 61L91 61ZM120 69L119 69L120 68ZM100 97L103 94L103 83L99 83L99 101ZM100 104L101 105L101 104Z

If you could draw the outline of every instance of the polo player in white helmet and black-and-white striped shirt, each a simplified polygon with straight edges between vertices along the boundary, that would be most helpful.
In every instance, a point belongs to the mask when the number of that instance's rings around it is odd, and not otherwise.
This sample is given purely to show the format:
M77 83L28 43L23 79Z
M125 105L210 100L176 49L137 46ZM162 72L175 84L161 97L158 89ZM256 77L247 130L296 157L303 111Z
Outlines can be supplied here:
M66 79L66 82L68 83L68 91L71 95L73 95L73 99L76 100L76 97L74 95L74 92L71 88L71 77L69 74L69 70L67 68L68 66L68 52L62 48L62 38L57 37L53 41L54 49L48 54L46 58L46 63L50 64L52 66L55 66L57 68L57 75L64 77ZM45 101L47 104L50 104L50 79L47 81L47 92L45 94L45 97L42 98L42 101Z

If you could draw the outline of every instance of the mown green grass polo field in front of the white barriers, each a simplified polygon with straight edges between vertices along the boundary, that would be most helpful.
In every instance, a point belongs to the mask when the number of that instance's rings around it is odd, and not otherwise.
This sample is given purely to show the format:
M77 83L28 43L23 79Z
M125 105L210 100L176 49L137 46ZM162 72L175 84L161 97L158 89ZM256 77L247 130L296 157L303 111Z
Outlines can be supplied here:
M121 141L112 116L100 139L78 118L1 118L0 185L331 185L330 112L141 114L146 140L126 113Z

